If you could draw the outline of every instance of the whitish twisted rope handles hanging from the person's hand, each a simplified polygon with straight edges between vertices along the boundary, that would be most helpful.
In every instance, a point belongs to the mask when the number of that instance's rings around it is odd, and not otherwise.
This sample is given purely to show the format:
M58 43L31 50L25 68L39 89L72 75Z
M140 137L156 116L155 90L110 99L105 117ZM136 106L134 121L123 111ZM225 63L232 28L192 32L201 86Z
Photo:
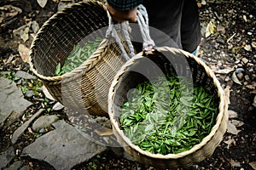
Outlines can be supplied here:
M109 14L108 10L108 30L106 33L106 37L113 37L113 39L117 42L122 54L125 57L125 60L131 59L135 55L134 53L134 48L131 43L131 38L130 38L130 26L129 22L125 21L120 24L113 24L113 19L111 15ZM149 26L148 26L148 13L146 8L143 5L139 5L137 8L137 23L140 28L142 37L143 37L143 51L150 51L152 49L155 49L155 44L154 41L151 39L149 35ZM125 37L125 41L127 43L127 46L130 50L130 54L127 54L124 48L124 45L121 42L121 39L119 37L118 31Z

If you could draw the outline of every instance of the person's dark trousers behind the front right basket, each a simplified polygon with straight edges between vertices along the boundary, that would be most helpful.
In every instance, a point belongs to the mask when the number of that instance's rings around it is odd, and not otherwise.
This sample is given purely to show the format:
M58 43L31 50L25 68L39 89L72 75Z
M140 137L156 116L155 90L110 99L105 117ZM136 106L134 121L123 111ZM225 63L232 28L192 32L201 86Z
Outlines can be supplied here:
M201 27L195 0L144 0L150 36L156 46L182 48L190 53L201 41Z

